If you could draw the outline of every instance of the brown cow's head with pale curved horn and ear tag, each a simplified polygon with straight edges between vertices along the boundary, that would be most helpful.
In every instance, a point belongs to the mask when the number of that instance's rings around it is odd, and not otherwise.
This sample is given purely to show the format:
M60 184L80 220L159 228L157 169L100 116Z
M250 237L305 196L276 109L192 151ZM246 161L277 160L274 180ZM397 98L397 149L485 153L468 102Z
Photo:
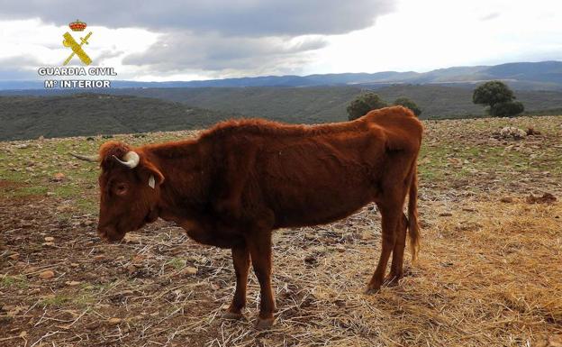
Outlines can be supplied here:
M102 169L97 226L102 239L120 241L125 233L158 219L164 176L142 151L132 151L122 142L106 142L96 160Z

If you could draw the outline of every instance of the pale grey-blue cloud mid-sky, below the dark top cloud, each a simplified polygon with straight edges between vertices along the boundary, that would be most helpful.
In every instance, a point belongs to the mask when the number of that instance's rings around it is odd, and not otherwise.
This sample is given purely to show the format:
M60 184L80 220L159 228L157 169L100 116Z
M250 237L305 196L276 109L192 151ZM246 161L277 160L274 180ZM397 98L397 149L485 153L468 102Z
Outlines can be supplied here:
M146 51L133 53L124 64L147 67L162 74L182 70L287 73L297 63L311 62L309 53L326 41L319 36L230 37L217 33L172 32Z

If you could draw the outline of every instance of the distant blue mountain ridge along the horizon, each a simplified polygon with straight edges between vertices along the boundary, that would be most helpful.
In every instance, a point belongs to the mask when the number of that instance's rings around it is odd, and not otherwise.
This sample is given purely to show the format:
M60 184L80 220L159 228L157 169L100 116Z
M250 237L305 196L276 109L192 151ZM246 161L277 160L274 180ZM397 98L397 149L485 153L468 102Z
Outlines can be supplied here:
M427 72L379 71L258 76L191 81L141 82L113 80L112 87L319 87L340 85L457 84L474 87L500 79L520 90L562 90L562 61L512 62L499 65L437 68ZM0 90L38 89L42 81L0 81Z

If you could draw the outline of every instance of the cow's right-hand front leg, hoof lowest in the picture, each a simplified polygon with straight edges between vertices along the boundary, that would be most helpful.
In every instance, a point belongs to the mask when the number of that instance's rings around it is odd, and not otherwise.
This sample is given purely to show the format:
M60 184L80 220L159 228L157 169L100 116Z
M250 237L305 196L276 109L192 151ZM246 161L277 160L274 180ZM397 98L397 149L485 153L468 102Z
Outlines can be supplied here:
M247 243L260 288L257 328L267 329L273 324L276 309L271 288L271 231L253 234Z

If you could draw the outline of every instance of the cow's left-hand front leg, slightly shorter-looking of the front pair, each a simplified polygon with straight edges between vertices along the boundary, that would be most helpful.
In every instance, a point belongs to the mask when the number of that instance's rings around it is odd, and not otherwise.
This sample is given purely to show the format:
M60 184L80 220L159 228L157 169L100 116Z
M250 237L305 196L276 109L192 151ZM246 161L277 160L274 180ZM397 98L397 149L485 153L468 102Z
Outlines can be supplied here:
M236 290L231 306L224 314L228 319L240 319L242 308L246 305L246 285L248 282L249 251L246 245L232 248L232 263L236 273Z

